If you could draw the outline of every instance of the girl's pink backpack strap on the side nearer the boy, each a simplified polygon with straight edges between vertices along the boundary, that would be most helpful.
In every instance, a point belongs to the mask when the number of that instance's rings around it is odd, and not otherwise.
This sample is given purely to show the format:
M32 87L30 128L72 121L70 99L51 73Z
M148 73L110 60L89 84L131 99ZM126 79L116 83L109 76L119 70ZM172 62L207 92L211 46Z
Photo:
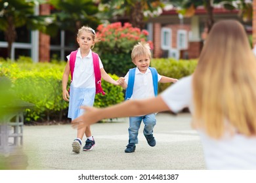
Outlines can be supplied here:
M95 52L92 52L92 54L93 54L93 69L95 71L96 93L102 93L102 95L105 95L105 92L101 87L101 74L100 74L100 63L98 61L98 54L96 54Z

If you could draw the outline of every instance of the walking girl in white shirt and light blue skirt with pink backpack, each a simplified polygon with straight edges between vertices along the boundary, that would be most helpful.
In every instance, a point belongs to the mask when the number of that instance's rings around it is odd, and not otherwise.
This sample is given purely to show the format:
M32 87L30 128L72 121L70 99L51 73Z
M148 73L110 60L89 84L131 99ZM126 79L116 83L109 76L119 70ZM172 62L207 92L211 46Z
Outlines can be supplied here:
M77 43L79 48L76 56L74 56L74 68L70 65L71 54L67 56L68 62L66 64L64 74L62 77L62 97L65 101L70 101L68 108L68 118L74 120L78 116L83 114L81 105L93 106L95 101L96 84L95 84L95 63L93 60L92 48L99 40L96 39L95 30L91 27L81 27L77 33ZM97 56L97 55L96 55ZM98 57L98 56L97 56ZM95 59L95 58L94 58ZM110 82L114 85L123 83L123 79L113 80L104 70L100 58L98 64L100 68L100 74L106 82ZM72 62L73 63L73 62ZM73 71L74 69L74 71ZM70 94L67 90L68 77L72 75L72 82L70 84ZM97 83L97 82L96 82ZM72 142L73 152L79 153L81 149L81 140L83 134L87 137L83 150L92 150L95 146L95 140L91 134L91 127L88 125L85 129L77 130L77 138Z

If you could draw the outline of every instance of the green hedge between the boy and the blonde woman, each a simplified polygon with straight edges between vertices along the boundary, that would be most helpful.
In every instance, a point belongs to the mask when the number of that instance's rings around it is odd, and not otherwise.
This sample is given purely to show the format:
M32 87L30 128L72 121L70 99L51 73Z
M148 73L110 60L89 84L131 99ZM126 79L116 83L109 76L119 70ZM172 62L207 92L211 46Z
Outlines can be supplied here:
M196 59L185 60L180 59L152 59L151 66L155 67L160 75L168 76L171 78L180 79L184 76L191 75L196 69L198 61ZM158 92L161 93L171 84L160 83L158 84Z

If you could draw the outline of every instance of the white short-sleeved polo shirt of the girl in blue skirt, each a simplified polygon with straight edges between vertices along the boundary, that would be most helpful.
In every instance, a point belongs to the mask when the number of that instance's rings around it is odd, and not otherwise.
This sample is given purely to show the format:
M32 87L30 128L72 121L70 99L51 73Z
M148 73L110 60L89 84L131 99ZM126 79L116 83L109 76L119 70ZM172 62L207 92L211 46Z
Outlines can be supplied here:
M66 58L70 60L70 55ZM98 61L100 69L103 68L100 58L98 58ZM91 50L87 56L82 58L80 48L78 48L72 84L75 88L95 88L95 72L93 69L93 54Z

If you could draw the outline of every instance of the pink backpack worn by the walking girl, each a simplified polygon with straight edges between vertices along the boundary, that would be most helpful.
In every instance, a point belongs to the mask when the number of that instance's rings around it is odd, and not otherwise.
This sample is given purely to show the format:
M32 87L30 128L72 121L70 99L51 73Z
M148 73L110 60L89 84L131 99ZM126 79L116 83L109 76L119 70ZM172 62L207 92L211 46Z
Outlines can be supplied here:
M77 50L74 52L71 52L70 54L70 75L71 80L73 80L73 73L75 68L75 59L76 59ZM98 54L95 52L92 52L93 54L93 69L95 71L95 86L96 86L96 93L102 93L102 95L105 95L105 92L103 91L101 87L101 74L100 74L100 65L98 61Z

